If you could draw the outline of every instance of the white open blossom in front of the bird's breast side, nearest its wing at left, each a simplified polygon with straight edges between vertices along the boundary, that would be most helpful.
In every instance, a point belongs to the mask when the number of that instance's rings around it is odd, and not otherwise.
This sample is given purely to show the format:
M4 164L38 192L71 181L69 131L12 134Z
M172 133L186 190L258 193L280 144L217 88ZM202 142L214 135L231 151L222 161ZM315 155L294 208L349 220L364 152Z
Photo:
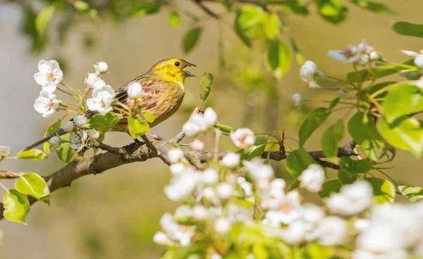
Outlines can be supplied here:
M97 111L100 114L111 112L111 102L115 97L115 91L110 85L106 85L103 80L98 80L94 84L94 91L92 91L92 98L87 100L87 107L92 111Z

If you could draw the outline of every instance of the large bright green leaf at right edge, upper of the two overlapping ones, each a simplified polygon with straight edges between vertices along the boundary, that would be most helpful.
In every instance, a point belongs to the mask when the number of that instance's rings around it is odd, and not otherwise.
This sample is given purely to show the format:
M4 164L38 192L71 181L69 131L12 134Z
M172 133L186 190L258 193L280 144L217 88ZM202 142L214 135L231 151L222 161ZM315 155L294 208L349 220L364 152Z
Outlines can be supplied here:
M423 111L423 92L416 85L393 85L382 103L388 123L400 116Z

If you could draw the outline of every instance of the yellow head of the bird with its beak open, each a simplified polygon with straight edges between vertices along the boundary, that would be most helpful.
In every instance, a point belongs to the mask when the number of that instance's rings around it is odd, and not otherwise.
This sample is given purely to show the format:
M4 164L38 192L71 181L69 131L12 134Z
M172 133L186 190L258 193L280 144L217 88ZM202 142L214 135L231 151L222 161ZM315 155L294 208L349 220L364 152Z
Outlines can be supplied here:
M183 84L185 78L195 76L190 71L184 71L187 66L195 66L178 58L162 59L147 71L147 75L173 83Z

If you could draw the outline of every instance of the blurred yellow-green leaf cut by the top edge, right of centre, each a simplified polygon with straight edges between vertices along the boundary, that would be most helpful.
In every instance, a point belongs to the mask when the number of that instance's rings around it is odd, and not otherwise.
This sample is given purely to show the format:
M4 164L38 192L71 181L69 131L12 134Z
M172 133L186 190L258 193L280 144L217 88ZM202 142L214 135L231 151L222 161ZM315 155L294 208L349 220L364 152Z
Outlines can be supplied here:
M348 8L339 0L317 0L319 15L329 23L341 23L347 17Z

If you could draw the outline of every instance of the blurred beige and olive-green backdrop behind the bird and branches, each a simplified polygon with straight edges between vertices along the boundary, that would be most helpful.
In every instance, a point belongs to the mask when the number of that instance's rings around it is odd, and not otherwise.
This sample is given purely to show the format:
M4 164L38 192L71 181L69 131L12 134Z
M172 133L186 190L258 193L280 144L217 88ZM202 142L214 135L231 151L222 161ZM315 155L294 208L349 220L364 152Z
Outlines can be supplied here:
M421 23L423 1L380 2L388 4L396 14L374 14L348 4L348 18L339 25L326 23L314 8L309 16L288 16L286 22L305 58L331 76L342 78L351 68L329 59L326 55L329 49L343 49L346 44L358 44L365 39L376 51L383 53L387 61L400 62L407 59L400 49L418 51L423 48L422 40L403 37L391 30L393 20ZM167 19L170 10L162 8L154 16L123 23L103 20L93 24L82 20L71 28L63 46L51 44L36 55L28 51L30 41L20 33L23 20L20 6L8 1L0 3L0 145L11 146L13 154L40 138L55 121L55 118L43 119L32 107L39 92L33 74L37 72L40 59L65 61L63 81L82 90L85 76L93 71L92 64L97 61L109 64L110 73L103 78L117 89L147 71L159 59L178 56L197 65L190 69L197 76L204 71L214 74L215 82L206 106L216 110L221 123L247 126L257 133L280 132L281 128L286 128L287 135L293 138L297 138L298 123L309 107L327 105L322 101L337 95L332 91L307 90L298 77L299 67L295 62L282 80L272 79L264 70L260 45L247 49L234 35L231 14L223 16L221 23L227 62L221 68L219 28L214 20L202 22L204 33L190 54L182 52L180 42L185 31L196 24L183 16L181 26L172 28ZM205 5L216 13L226 13L216 4ZM176 6L194 13L202 12L190 1L176 1ZM85 35L94 35L94 44L89 48L83 44ZM51 37L58 36L53 33ZM252 75L260 80L251 83ZM180 131L192 108L200 105L199 81L200 77L188 78L183 107L176 116L153 128L152 133L172 138ZM300 108L292 107L290 97L294 92L300 92L311 101ZM337 115L348 116L346 112ZM326 126L314 133L314 138L307 142L308 150L320 149L319 136L336 119L331 116ZM114 146L130 141L123 133L109 133L105 140ZM296 147L295 141L288 145ZM230 148L233 145L223 138L221 149ZM1 169L48 175L63 165L51 155L42 162L9 159L1 163ZM412 155L398 152L398 158L389 164L395 168L386 172L398 183L423 186L422 165L422 161ZM274 166L278 175L289 181L283 162L274 163ZM335 171L329 170L329 176L334 175ZM0 246L0 258L159 258L164 249L154 244L152 237L159 230L161 215L172 212L178 205L163 193L169 176L168 168L159 159L85 176L73 182L71 187L53 193L50 207L41 203L34 205L27 217L27 226L2 220L0 229L4 231L4 244Z

